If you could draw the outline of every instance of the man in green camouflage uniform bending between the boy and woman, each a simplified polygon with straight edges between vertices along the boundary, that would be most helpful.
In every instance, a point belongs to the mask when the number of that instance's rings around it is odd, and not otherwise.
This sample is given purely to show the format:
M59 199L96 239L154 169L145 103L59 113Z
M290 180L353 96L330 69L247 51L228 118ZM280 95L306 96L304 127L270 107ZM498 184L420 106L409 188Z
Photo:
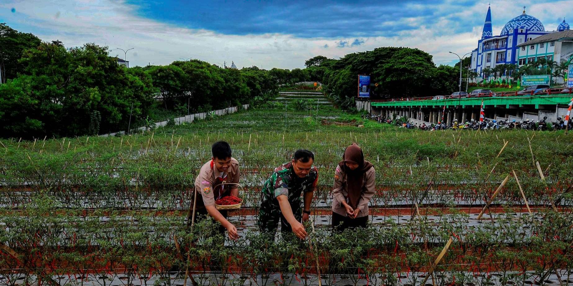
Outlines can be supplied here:
M257 222L261 232L274 234L280 219L282 232L293 232L300 239L307 236L301 220L308 220L319 178L318 170L312 165L314 158L309 150L297 150L291 162L274 169L272 176L266 180L261 191ZM300 200L303 193L304 211Z

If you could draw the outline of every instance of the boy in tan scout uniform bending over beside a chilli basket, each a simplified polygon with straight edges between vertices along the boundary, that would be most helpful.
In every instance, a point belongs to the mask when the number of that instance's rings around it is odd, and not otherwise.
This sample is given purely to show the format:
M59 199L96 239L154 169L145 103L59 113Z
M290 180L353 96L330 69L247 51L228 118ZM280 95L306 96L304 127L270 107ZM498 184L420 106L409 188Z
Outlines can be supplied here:
M227 210L215 208L215 201L225 196L238 197L238 185L227 185L239 182L239 162L231 157L231 147L225 141L218 141L211 146L213 157L199 170L199 175L195 179L195 192L201 194L197 196L195 205L195 217L201 219L206 215L221 223L219 232L229 235L229 239L239 238L237 228L227 220ZM189 211L191 220L193 201Z

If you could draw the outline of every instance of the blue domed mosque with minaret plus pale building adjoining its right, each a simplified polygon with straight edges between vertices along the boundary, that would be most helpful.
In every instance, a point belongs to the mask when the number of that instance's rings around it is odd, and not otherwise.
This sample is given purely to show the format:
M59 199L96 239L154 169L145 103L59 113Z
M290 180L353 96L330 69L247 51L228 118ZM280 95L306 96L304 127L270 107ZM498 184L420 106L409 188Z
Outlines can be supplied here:
M482 70L492 69L496 65L524 65L541 57L558 61L562 55L562 43L573 42L573 33L569 24L563 22L554 31L545 31L539 19L525 13L505 23L499 35L492 31L492 11L488 7L485 16L484 30L477 42L477 49L472 51L472 70L483 77ZM556 43L559 43L559 57ZM573 45L571 45L573 49ZM568 49L568 48L567 48ZM566 50L567 50L566 49Z

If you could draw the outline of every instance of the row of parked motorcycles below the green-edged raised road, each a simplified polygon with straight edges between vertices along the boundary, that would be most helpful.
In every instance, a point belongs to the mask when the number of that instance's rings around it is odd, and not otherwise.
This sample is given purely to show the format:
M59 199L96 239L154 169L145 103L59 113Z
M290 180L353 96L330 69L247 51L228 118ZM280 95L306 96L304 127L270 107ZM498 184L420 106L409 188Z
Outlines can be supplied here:
M462 129L462 130L501 130L501 129L524 129L524 130L562 130L566 129L565 121L563 118L558 117L557 121L555 122L548 122L547 116L543 117L543 120L524 120L524 121L516 121L516 120L489 120L484 119L484 121L478 120L469 120L465 122L458 122L457 120L446 124L445 122L438 122L437 124L430 124L426 125L425 123L418 125L417 123L413 123L411 121L403 121L403 120L394 120L393 118L387 118L384 116L370 114L370 116L366 116L366 118L370 118L371 120L376 120L380 123L387 123L399 126L401 128L407 129L421 129L421 130L446 130L446 129ZM568 129L573 128L573 122L568 122Z

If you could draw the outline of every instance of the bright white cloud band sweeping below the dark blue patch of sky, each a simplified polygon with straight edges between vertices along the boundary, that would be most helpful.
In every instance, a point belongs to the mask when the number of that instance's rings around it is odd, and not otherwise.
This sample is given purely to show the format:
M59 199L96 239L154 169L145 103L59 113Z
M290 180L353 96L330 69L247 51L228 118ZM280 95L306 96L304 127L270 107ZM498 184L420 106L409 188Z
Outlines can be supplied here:
M545 4L523 2L528 6L528 14L541 19L547 30L555 29L557 24L553 22L556 17L567 17L566 14L573 11L573 0ZM432 8L442 14L448 11L448 6L446 1ZM10 12L12 7L16 13ZM494 34L499 33L509 19L521 14L522 9L513 1L494 1ZM433 55L437 64L453 63L457 59L448 51L465 54L477 46L486 11L486 4L476 3L466 9L451 11L448 13L449 19L439 18L431 26L422 23L419 29L402 31L397 37L370 37L362 45L337 48L336 42L352 43L355 38L309 39L285 34L225 35L209 30L187 29L141 17L138 7L124 0L8 0L0 3L0 17L8 25L34 33L45 41L60 39L68 47L95 42L109 46L113 50L111 55L120 57L123 57L123 52L116 47L135 47L127 55L131 66L143 66L148 62L167 65L179 57L192 57L211 63L234 61L238 67L256 65L265 69L303 67L304 61L315 55L339 58L354 51L372 50L380 46L417 47ZM476 17L480 19L480 24L468 26L465 33L450 30ZM454 23L452 19L458 22ZM419 23L421 19L408 18L407 22Z

